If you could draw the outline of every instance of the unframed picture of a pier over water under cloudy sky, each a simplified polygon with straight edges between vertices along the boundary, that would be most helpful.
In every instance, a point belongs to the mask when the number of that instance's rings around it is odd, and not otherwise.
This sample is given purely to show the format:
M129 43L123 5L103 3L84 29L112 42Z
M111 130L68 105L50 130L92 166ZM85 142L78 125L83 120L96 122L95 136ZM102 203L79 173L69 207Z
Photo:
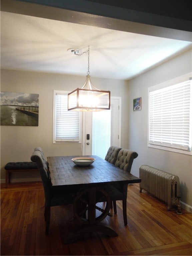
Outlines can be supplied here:
M1 125L38 126L39 94L1 92Z

